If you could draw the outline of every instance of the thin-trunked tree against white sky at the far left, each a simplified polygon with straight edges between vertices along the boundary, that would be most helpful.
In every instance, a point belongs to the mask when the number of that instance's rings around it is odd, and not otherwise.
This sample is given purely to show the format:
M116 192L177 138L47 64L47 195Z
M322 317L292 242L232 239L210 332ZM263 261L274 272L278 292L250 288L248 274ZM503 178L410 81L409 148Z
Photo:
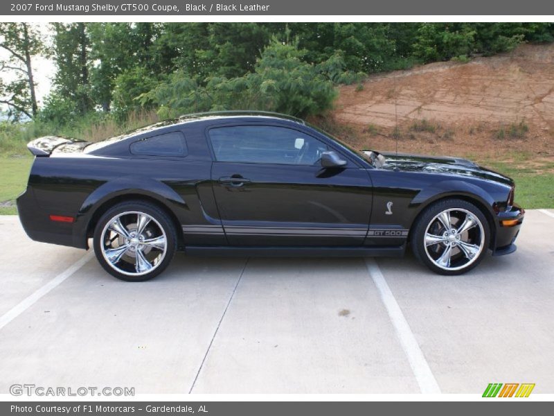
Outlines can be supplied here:
M8 105L8 116L37 115L37 95L33 78L33 56L44 51L38 31L27 23L0 23L0 49L8 58L0 60L0 73L10 72L13 80L0 78L0 103Z

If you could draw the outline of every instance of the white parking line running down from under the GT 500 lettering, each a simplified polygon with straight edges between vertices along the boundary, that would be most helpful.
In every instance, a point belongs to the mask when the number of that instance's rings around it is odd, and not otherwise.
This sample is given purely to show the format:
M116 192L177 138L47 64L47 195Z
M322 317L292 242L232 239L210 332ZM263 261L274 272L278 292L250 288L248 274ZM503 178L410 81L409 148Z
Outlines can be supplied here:
M402 309L398 306L391 292L391 288L386 284L381 269L379 269L375 260L370 258L366 258L366 266L375 286L377 286L377 291L379 291L379 295L388 312L388 316L391 318L400 345L402 345L402 349L404 349L404 353L408 358L411 370L413 371L415 379L418 381L421 392L426 394L440 393L440 388L438 387L435 376L431 372L431 368L427 360L425 360L425 356L420 349L418 341L415 340L410 325L408 321L406 321L406 318L404 318Z

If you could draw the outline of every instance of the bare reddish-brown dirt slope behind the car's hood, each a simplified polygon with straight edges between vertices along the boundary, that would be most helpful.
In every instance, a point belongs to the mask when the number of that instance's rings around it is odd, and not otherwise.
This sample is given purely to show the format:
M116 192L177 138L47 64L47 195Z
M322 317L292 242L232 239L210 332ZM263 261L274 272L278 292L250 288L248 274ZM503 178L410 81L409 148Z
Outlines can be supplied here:
M341 87L332 116L357 147L554 157L554 44L437 62ZM395 126L398 126L397 128Z

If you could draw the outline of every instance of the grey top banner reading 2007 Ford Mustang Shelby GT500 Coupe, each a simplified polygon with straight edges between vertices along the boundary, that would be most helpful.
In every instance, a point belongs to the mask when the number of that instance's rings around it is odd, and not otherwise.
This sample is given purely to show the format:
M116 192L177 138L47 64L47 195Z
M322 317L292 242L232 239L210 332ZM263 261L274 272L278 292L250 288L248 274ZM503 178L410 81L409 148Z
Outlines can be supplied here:
M6 0L1 15L554 15L544 0Z

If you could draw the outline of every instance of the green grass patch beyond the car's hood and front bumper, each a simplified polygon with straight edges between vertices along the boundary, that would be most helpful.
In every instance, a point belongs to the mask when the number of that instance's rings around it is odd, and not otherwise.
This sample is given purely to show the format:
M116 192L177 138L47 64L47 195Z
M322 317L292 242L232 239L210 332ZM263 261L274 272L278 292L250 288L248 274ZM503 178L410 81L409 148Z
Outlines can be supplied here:
M514 166L509 162L491 160L480 164L515 180L515 202L521 207L554 207L554 163L546 163L539 168Z

